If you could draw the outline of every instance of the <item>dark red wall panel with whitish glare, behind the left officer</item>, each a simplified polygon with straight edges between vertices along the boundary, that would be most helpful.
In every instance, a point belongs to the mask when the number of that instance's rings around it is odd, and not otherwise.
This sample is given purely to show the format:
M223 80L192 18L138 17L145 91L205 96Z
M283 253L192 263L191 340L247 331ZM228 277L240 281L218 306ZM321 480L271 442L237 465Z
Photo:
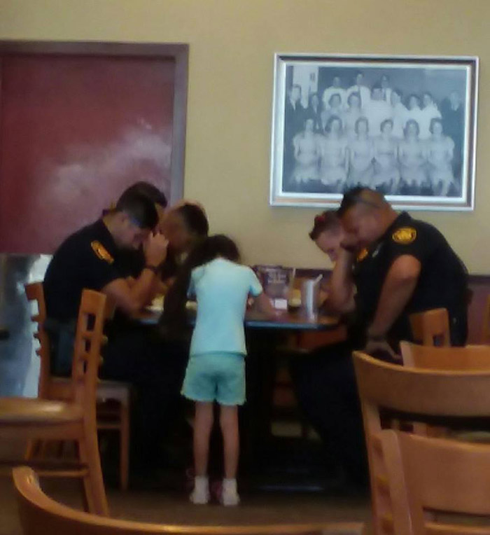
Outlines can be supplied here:
M6 55L0 251L51 253L137 180L170 188L172 59Z

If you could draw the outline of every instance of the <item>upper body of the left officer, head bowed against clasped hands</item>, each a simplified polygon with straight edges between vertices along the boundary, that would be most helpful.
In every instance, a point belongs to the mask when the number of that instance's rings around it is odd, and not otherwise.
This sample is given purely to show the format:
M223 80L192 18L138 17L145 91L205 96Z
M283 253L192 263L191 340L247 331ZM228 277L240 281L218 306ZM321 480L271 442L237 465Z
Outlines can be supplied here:
M158 266L167 255L167 239L153 235L158 214L139 193L123 194L116 208L65 239L52 257L44 279L46 309L60 332L72 328L83 289L102 291L125 314L134 314L153 297ZM128 284L120 255L144 244L146 265ZM59 348L61 349L61 348ZM57 354L57 370L69 373L71 352Z

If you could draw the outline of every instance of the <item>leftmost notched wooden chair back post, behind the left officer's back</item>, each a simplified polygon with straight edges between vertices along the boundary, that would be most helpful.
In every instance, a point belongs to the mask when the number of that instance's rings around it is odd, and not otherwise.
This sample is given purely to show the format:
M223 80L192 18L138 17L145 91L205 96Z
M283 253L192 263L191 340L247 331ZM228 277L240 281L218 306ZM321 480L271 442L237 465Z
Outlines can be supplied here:
M36 325L35 338L39 341L39 348L36 353L41 360L39 369L38 397L48 397L48 385L50 381L50 338L45 331L44 323L46 321L46 305L44 300L44 290L42 282L33 282L25 285L27 300L36 303L37 313L32 316L32 321Z

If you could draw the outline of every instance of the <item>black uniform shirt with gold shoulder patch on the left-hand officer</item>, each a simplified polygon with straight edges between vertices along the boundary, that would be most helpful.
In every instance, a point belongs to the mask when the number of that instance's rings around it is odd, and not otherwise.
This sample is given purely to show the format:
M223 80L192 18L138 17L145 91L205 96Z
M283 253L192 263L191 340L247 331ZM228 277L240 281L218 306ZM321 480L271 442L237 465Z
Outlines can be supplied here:
M125 277L119 254L102 219L66 238L44 278L48 317L62 323L73 321L84 288L100 291L109 282Z

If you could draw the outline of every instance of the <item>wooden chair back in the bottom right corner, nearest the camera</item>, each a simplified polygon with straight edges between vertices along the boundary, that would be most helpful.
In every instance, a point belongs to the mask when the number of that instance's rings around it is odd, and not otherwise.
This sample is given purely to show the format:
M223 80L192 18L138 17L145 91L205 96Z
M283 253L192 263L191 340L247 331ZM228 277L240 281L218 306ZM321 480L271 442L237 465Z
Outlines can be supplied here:
M490 446L379 433L397 535L490 534L490 527L428 521L426 512L490 516ZM461 519L460 519L461 520Z

